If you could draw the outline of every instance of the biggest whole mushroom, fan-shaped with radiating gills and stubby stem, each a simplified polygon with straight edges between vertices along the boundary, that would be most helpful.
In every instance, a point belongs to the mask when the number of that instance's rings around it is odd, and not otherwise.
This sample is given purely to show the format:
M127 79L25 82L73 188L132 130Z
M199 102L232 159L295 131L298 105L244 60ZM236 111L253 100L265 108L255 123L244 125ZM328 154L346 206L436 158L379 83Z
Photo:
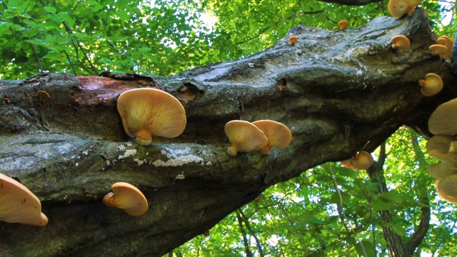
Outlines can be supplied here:
M152 136L175 138L186 128L186 111L171 94L159 89L142 88L125 91L117 99L117 110L127 135L142 146Z

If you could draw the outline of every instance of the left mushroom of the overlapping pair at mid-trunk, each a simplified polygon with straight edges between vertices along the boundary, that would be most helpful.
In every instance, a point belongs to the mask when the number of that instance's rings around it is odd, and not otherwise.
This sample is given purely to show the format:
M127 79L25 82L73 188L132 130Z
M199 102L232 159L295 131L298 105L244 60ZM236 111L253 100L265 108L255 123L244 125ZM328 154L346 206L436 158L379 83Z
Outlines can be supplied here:
M224 131L231 143L227 150L230 156L236 156L238 151L258 151L268 143L263 132L248 121L229 121Z

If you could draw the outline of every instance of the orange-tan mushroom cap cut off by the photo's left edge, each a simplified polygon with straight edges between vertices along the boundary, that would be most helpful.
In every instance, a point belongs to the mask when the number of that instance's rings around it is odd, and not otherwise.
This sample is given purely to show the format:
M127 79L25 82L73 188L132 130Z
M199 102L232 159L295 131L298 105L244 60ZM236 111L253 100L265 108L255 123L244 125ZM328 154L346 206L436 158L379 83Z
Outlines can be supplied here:
M0 173L0 221L46 226L48 218L29 188Z

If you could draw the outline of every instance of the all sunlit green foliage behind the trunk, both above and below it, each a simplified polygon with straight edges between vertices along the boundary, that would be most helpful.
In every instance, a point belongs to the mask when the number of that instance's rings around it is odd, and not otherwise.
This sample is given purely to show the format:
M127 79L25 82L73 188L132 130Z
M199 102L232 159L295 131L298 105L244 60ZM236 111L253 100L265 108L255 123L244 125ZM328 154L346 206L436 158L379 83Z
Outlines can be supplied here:
M0 75L8 80L44 71L194 76L191 72L204 71L189 69L268 50L293 34L294 26L338 30L338 21L347 20L350 33L376 17L389 16L387 4L1 1ZM423 1L421 7L438 36L455 36L455 1ZM450 16L443 24L445 15ZM367 171L329 162L273 184L170 256L457 255L457 208L437 196L435 180L426 171L436 162L426 153L427 133L413 129L403 126L378 143L372 153L375 164Z

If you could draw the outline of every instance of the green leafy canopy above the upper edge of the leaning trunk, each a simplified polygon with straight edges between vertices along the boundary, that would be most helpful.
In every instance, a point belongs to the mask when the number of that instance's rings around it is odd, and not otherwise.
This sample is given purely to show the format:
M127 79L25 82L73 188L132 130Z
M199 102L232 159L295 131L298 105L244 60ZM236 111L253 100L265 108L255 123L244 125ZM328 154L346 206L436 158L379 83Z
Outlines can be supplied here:
M388 15L387 2L5 0L0 4L0 76L23 79L40 70L167 76L262 51L298 24L337 29L346 19L352 28L361 26ZM436 1L423 6L437 34L453 35L455 21L449 26L440 21L440 11L452 6Z

